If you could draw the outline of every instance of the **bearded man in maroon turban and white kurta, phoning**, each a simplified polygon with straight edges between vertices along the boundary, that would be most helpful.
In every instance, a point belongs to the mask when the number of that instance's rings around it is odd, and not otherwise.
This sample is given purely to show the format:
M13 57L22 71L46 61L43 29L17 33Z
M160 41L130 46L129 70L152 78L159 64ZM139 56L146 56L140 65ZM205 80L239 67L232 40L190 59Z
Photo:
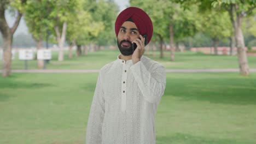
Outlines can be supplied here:
M166 73L161 64L143 56L144 41L153 35L152 21L142 9L127 8L115 21L115 34L121 53L98 75L86 143L155 143L155 115Z

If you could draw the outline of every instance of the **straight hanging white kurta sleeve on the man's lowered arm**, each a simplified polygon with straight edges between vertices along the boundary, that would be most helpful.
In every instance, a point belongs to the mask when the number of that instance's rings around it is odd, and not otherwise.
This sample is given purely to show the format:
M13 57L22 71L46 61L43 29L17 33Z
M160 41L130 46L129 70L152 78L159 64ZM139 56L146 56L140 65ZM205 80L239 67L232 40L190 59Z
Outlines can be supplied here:
M99 74L92 99L90 115L86 129L86 144L100 144L102 140L102 122L105 113L105 100L102 88L101 75Z

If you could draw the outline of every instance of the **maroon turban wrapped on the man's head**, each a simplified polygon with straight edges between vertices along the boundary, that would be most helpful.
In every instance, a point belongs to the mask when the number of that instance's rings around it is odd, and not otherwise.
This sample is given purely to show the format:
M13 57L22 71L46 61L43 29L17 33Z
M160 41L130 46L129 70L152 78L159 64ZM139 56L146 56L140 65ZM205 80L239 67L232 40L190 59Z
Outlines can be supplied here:
M139 34L148 36L148 43L153 35L153 25L148 14L140 8L129 7L121 11L115 20L115 35L118 36L121 26L128 19L132 19L138 28Z

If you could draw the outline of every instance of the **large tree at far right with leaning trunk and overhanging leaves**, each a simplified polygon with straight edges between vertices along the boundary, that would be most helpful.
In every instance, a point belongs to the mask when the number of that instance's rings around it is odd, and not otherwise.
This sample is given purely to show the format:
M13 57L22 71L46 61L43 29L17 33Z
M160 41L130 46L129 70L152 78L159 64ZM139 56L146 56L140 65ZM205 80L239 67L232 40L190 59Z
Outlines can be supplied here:
M245 50L245 40L242 32L243 17L251 15L252 11L256 8L255 0L193 0L183 1L177 0L181 3L199 3L201 9L220 8L226 10L229 13L232 26L235 29L235 39L237 47L238 65L240 68L240 74L249 75L249 65Z

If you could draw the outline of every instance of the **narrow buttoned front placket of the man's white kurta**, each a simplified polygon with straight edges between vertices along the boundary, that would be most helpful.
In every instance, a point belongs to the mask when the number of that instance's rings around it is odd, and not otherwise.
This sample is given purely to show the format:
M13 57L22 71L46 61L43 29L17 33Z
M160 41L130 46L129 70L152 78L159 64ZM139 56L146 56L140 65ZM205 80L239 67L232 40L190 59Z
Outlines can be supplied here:
M126 88L126 81L127 81L127 64L125 61L123 62L123 74L122 74L122 81L121 81L121 85L122 85L122 90L121 90L121 107L122 107L122 111L125 112L126 110L126 95L127 95L127 88Z

